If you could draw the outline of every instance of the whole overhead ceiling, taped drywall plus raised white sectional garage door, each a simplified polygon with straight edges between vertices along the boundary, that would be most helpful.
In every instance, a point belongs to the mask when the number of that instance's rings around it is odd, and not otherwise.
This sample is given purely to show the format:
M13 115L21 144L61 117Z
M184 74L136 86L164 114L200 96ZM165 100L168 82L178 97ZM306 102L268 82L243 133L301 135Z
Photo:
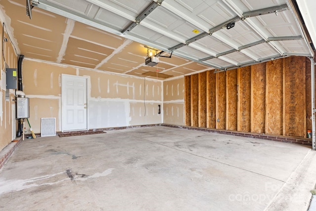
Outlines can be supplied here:
M17 54L163 80L314 56L288 0L0 0ZM303 14L304 16L304 14ZM144 47L144 46L148 46ZM148 49L159 56L147 66Z

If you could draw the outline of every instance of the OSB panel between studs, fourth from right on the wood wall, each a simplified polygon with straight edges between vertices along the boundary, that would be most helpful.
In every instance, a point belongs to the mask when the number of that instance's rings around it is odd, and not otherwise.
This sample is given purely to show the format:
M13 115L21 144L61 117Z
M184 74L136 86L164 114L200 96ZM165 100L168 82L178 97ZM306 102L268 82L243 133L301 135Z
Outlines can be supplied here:
M251 132L265 133L266 64L251 66Z

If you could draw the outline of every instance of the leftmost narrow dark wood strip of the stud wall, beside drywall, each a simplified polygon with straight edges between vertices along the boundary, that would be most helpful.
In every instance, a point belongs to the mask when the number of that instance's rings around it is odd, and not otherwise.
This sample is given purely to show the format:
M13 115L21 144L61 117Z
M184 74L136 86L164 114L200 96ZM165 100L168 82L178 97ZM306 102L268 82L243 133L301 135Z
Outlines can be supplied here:
M191 76L184 77L184 124L191 126Z

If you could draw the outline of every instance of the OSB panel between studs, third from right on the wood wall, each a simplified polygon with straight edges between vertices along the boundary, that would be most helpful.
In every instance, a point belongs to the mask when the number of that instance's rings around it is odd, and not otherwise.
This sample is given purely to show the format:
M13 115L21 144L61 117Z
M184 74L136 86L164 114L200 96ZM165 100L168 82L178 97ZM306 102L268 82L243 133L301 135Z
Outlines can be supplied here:
M266 133L283 133L283 59L266 63Z

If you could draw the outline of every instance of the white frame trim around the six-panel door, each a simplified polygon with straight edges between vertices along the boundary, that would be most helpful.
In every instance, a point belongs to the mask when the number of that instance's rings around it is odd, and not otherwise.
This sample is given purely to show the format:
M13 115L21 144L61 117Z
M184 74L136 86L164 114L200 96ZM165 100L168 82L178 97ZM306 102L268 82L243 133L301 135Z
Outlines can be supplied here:
M77 75L69 75L69 74L61 74L61 131L70 131L70 130L64 130L64 124L63 124L63 118L64 118L64 114L63 114L63 77L71 77L71 78L77 78L77 79L84 79L85 80L85 97L86 97L86 129L84 130L88 130L89 129L89 124L88 124L88 77L85 76L77 76ZM74 129L75 131L76 129ZM78 129L78 130L82 130L82 129Z

